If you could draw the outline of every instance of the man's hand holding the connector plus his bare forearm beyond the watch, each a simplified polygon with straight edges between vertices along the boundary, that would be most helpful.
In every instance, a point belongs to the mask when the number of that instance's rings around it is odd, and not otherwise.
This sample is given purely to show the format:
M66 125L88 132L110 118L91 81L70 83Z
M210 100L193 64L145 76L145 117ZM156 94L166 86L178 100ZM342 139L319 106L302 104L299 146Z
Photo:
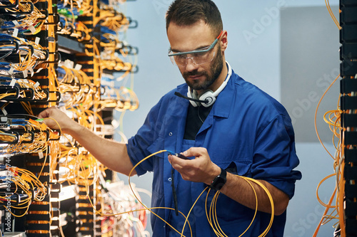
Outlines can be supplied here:
M221 169L211 162L208 152L202 147L191 147L186 152L182 153L185 157L195 157L195 159L181 159L174 155L169 155L169 162L172 167L176 169L182 176L182 179L203 182L211 185L211 181L221 174ZM277 189L272 184L264 180L257 180L261 182L273 197L274 213L276 215L283 214L288 206L288 195ZM258 197L258 211L271 213L271 203L266 195L266 192L253 182L250 182L255 190L253 192L252 186L247 181L243 180L234 174L227 173L227 181L220 190L222 194L238 201L238 203L248 206L251 209L256 209L256 196Z

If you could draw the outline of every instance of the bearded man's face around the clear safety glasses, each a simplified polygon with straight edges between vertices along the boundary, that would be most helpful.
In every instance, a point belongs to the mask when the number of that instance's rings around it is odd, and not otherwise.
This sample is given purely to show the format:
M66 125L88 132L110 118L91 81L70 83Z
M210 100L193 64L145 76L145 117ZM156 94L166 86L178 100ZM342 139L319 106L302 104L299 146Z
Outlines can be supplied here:
M203 21L192 26L176 26L171 23L167 36L171 44L171 50L174 52L187 52L199 50L210 46L217 38L213 35L211 28ZM216 43L209 52L213 59L207 63L197 64L194 59L186 59L186 65L178 65L187 85L193 90L207 90L214 88L213 84L221 74L223 68L223 56L221 53L220 41ZM192 57L192 55L187 55ZM194 58L194 56L193 56Z

